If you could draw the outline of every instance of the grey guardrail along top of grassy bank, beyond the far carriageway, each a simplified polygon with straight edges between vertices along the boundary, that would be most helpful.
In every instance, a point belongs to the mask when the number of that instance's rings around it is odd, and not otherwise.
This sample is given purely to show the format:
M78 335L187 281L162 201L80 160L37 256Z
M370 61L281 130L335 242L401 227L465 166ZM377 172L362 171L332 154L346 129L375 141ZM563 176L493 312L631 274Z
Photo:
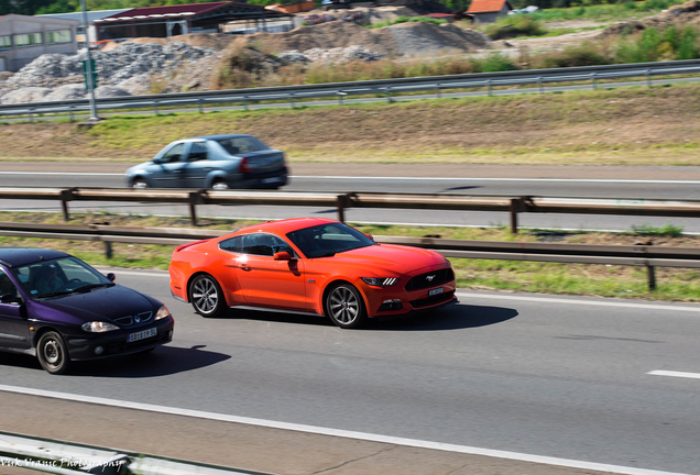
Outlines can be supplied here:
M354 82L332 82L325 85L283 86L253 89L232 89L206 92L179 92L167 95L133 96L128 98L103 98L97 100L102 110L153 109L155 113L162 107L205 108L222 103L237 103L248 108L251 102L295 101L305 99L337 98L342 103L348 96L384 95L392 101L392 95L404 92L431 91L437 97L445 89L488 88L538 85L544 92L545 84L590 81L595 89L600 80L645 77L650 86L653 76L682 75L700 73L700 60L635 63L626 65L582 66L557 69L533 69L504 73L479 73L450 76L429 76L403 79L381 79ZM2 115L30 115L50 113L69 113L89 111L87 99L32 102L21 104L0 104Z

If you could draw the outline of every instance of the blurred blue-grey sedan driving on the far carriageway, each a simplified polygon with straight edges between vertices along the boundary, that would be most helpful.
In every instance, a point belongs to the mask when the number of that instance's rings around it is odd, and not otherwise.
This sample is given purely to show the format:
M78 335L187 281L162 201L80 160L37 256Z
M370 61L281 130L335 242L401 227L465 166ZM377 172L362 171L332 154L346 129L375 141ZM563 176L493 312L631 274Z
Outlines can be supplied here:
M127 170L132 188L276 189L286 184L284 152L243 134L175 141Z

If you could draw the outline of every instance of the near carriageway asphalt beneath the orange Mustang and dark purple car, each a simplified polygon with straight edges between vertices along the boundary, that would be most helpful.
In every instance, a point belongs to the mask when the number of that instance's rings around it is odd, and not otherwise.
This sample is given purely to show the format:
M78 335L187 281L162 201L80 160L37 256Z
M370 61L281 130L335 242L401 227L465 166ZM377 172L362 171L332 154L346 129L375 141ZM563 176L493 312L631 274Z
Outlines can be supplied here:
M433 316L342 331L286 313L203 319L165 273L116 273L168 305L173 344L66 377L0 356L3 384L698 473L700 379L649 374L700 373L697 306L462 291Z

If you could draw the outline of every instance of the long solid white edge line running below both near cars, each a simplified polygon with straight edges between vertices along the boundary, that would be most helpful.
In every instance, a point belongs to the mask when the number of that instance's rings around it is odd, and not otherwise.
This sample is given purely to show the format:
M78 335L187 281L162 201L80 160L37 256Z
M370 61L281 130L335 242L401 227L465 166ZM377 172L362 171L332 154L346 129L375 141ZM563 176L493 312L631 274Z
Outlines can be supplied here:
M18 387L18 386L0 385L0 390L14 393L14 394L30 395L30 396L47 397L53 399L87 402L87 404L95 404L95 405L110 406L110 407L120 407L124 409L135 409L135 410L143 410L149 412L158 412L158 413L166 413L166 415L174 415L174 416L186 416L186 417L193 417L198 419L243 423L243 424L265 427L271 429L282 429L282 430L289 430L289 431L296 431L296 432L315 433L320 435L341 437L346 439L364 440L364 441L371 441L371 442L380 442L380 443L387 443L387 444L403 445L403 446L414 446L414 448L420 448L420 449L431 449L431 450L456 452L456 453L463 453L463 454L471 454L471 455L484 455L484 456L515 460L515 461L522 461L522 462L565 466L565 467L571 467L571 468L583 468L583 470L600 471L600 472L613 472L613 473L626 474L626 475L683 475L683 474L678 474L674 472L663 472L663 471L655 471L655 470L647 470L647 468L628 467L628 466L622 466L622 465L608 465L608 464L577 461L577 460L570 460L570 459L558 459L558 457L550 457L550 456L543 456L543 455L524 454L524 453L517 453L517 452L480 449L480 448L474 448L469 445L457 445L457 444L449 444L449 443L442 443L442 442L422 441L417 439L396 438L391 435L381 435L381 434L373 434L373 433L367 433L367 432L347 431L342 429L330 429L330 428L324 428L324 427L317 427L317 426L296 424L291 422L280 422L280 421L272 421L272 420L265 420L265 419L230 416L230 415L223 415L218 412L205 412L205 411L192 410L192 409L171 408L166 406L131 402L131 401L124 401L124 400L118 400L118 399L107 399L107 398L83 396L83 395L75 395L75 394L68 394L68 393L57 393L53 390L24 388L24 387Z

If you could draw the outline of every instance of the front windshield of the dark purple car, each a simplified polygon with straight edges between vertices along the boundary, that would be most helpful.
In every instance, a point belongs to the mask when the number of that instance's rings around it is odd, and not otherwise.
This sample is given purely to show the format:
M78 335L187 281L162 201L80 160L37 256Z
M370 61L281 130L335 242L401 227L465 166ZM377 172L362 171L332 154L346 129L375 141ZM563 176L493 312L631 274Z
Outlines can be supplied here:
M14 267L12 272L22 283L22 287L34 298L55 297L113 285L107 277L76 257L41 261Z

